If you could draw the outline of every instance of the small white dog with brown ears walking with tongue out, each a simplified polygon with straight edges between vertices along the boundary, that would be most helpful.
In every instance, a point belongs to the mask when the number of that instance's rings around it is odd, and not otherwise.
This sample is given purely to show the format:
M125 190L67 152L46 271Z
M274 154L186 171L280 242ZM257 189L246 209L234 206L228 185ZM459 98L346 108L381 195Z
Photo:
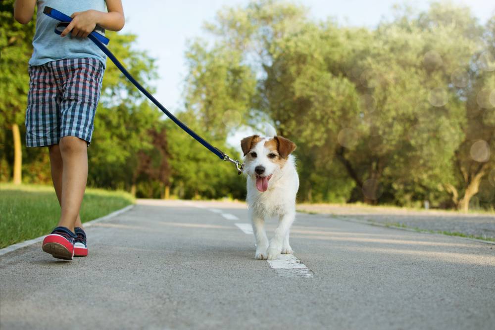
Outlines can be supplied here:
M247 209L256 240L255 259L274 260L293 253L289 232L296 219L299 177L292 152L296 144L276 135L269 127L267 137L252 135L241 140L244 174L247 176ZM265 219L278 217L275 236L268 242Z

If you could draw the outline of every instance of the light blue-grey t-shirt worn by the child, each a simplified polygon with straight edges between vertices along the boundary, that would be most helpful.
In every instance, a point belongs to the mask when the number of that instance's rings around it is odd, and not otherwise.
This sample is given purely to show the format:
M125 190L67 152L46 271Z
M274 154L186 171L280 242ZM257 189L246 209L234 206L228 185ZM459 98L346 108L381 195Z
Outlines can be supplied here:
M42 65L59 59L83 57L99 59L105 65L105 54L91 40L75 38L71 34L60 37L54 32L58 21L43 13L45 6L52 7L67 16L76 11L89 9L106 12L105 0L38 0L37 4L38 15L33 38L34 51L29 65Z

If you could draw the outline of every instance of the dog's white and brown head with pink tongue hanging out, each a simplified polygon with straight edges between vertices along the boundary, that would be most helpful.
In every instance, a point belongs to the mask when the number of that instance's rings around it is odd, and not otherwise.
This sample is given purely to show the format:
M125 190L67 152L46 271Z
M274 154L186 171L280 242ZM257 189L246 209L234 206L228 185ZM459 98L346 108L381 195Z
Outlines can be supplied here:
M268 189L270 179L282 170L296 144L283 137L261 138L257 135L241 140L244 172L256 180L259 191Z

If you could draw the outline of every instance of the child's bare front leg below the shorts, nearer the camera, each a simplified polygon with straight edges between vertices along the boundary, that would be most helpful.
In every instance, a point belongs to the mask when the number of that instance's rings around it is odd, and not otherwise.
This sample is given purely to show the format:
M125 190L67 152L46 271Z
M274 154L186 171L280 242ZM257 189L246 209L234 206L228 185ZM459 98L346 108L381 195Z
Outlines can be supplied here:
M88 179L88 144L79 138L66 136L60 139L59 149L63 170L60 194L62 213L58 226L74 232L76 221L79 222L77 227L81 227L78 218Z

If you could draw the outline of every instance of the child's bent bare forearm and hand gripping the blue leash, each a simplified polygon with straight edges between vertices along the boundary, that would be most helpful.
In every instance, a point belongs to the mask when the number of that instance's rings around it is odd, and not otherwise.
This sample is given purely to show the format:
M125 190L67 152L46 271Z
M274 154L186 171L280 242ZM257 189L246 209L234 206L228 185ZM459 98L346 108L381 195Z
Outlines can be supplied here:
M106 8L108 12L90 9L73 13L72 21L60 36L65 37L72 31L74 37L87 37L97 24L110 31L120 31L125 23L122 1L106 0Z

